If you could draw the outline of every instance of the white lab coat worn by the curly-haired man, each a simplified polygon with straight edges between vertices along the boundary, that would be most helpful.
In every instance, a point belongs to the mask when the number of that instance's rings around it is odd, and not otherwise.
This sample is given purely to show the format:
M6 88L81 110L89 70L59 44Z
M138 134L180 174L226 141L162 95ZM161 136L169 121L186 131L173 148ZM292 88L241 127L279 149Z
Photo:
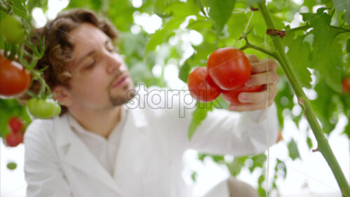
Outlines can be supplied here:
M188 141L193 103L182 102L184 96L179 93L178 98L153 96L157 105L143 106L154 94L139 95L130 102L137 105L123 105L128 113L113 176L73 133L67 116L33 121L25 133L27 196L191 196L181 175L186 149L234 156L267 149L265 110L235 113L214 109ZM169 98L174 101L172 106ZM159 109L164 104L167 109ZM276 142L278 123L275 105L268 111L270 146Z

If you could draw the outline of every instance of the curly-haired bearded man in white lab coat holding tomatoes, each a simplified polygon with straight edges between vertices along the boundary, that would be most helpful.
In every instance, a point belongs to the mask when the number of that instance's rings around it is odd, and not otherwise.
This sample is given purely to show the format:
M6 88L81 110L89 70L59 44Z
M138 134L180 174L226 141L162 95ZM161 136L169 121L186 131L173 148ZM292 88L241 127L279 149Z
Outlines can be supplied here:
M254 74L247 85L267 83L268 62L269 144L267 90L240 95L242 102L251 102L234 109L241 114L209 112L189 141L194 104L176 91L150 103L150 94L160 89L135 90L113 49L118 34L111 23L74 9L35 33L45 36L46 44L36 66L49 66L44 78L63 110L59 117L33 121L25 133L27 196L190 196L181 174L186 149L240 156L262 153L276 141L273 101L279 77L272 60L249 56ZM228 196L228 187L223 189Z

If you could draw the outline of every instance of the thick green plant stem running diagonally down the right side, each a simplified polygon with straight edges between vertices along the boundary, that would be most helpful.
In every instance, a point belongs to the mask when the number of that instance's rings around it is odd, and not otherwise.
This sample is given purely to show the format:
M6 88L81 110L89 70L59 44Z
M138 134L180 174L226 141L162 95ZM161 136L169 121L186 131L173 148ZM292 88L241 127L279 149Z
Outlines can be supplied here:
M275 29L274 22L272 21L272 18L269 15L269 12L267 11L265 2L259 3L258 8L262 14L262 17L265 20L267 29ZM323 134L321 126L318 124L317 118L314 114L314 110L311 107L311 102L308 100L307 96L302 90L302 86L300 86L300 82L298 81L297 76L293 71L293 67L290 64L290 61L284 51L284 46L281 41L281 38L279 36L272 35L272 42L274 43L276 53L279 57L281 57L279 63L281 64L281 67L285 72L288 81L295 92L295 95L297 95L298 102L302 109L304 109L304 115L307 118L311 130L316 137L318 143L318 151L321 152L321 154L325 158L325 161L327 161L328 165L330 166L330 169L332 170L333 175L337 180L340 191L342 191L342 196L350 196L350 186L346 181L346 178L344 177L344 173L342 172L342 169L340 168L337 159L332 153L332 149L330 149L330 145L328 144L328 140Z

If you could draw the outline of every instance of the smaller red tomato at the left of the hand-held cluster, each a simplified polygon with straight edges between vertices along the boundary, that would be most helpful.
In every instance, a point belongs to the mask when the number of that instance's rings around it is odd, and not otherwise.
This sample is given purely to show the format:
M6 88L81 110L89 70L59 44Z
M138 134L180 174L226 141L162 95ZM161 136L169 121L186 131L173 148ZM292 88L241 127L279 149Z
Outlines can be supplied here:
M200 102L211 102L220 95L221 89L211 80L206 67L199 67L187 79L190 94Z

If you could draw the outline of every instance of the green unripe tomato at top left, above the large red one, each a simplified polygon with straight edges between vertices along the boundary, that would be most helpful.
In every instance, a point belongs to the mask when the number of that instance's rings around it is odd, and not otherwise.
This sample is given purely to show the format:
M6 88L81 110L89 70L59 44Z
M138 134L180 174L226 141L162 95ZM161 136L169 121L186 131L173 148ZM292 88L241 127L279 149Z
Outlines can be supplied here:
M8 43L19 44L25 40L25 29L20 18L15 15L8 15L1 20L0 33Z

